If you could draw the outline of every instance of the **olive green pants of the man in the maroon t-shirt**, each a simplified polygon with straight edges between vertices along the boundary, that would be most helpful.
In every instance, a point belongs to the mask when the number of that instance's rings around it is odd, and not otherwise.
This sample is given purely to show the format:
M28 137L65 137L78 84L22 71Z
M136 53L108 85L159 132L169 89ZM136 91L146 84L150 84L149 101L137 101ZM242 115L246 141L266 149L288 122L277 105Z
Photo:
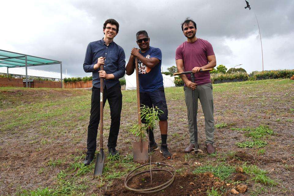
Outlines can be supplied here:
M190 143L195 144L194 138L194 120L193 120L193 101L192 101L192 89L184 86L185 100L188 110L188 128L190 134ZM213 119L213 95L212 95L212 84L198 85L195 89L196 99L196 114L198 111L198 99L200 100L204 119L205 119L205 144L213 144L214 135L214 119Z

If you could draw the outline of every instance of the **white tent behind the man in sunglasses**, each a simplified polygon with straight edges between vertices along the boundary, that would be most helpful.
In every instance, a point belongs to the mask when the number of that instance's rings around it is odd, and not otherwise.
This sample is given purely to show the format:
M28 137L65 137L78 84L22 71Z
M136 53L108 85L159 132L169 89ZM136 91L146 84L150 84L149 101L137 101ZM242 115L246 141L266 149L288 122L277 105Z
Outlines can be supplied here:
M175 84L174 84L175 77L174 76L167 76L167 75L162 74L162 77L163 77L164 88L175 86ZM126 79L126 90L136 89L136 73L135 72L130 76L125 75L125 79Z

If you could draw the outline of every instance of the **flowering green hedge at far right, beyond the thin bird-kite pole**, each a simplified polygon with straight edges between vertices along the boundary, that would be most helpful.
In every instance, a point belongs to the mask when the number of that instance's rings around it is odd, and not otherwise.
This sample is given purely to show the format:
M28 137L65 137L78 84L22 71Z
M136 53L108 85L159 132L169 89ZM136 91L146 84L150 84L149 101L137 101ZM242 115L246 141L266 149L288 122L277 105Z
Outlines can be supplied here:
M271 70L255 72L254 77L269 77L269 78L290 78L294 75L294 70Z

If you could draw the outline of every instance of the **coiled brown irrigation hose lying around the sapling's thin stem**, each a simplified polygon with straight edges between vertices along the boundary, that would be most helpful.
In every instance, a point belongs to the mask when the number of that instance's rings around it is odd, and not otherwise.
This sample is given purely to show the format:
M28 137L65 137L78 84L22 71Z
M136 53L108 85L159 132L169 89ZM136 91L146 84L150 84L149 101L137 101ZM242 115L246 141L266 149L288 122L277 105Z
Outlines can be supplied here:
M149 170L144 170L144 171L141 171L139 173L136 173L134 175L131 176L131 174L133 174L135 171L137 171L138 169L146 166L146 165L163 165L163 166L168 166L170 168L173 169L173 173L167 169L149 169ZM130 179L134 178L135 176L137 175L140 175L140 174L143 174L143 173L146 173L146 172L152 172L152 171L166 171L168 173L171 174L172 178L169 179L166 183L164 184L161 184L161 185L158 185L156 187L152 187L152 188L148 188L148 189L132 189L130 187L127 186L127 183L129 182ZM132 170L127 176L126 176L126 179L125 179L125 187L126 189L128 190L132 190L132 191L135 191L135 192L138 192L138 193L154 193L154 192L157 192L157 191L160 191L160 190L163 190L165 189L166 187L168 187L169 185L171 185L171 183L174 181L175 179L175 168L171 165L168 165L168 164L165 164L165 163L146 163L144 165L141 165L137 168L135 168L134 170Z

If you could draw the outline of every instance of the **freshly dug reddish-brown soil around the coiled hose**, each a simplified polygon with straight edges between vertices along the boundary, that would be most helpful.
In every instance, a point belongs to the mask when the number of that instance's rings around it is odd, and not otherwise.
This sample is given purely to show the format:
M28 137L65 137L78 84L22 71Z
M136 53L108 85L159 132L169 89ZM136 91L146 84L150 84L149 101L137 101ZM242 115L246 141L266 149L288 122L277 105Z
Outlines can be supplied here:
M136 176L129 183L129 187L144 189L155 187L156 185L162 184L171 178L171 175L167 172L153 172L152 174L152 184L150 183L150 174L145 173L141 176ZM224 182L220 181L218 178L214 177L212 173L204 173L204 174L193 174L186 173L184 175L176 175L174 182L164 189L163 191L150 193L148 195L162 195L166 196L167 193L170 196L173 195L199 195L206 196L207 190L219 187L228 188L229 186L225 185ZM124 187L124 180L117 180L113 182L113 185L110 189L104 192L104 195L111 196L120 196L120 195L140 195L140 193L136 193L130 190L127 190Z

